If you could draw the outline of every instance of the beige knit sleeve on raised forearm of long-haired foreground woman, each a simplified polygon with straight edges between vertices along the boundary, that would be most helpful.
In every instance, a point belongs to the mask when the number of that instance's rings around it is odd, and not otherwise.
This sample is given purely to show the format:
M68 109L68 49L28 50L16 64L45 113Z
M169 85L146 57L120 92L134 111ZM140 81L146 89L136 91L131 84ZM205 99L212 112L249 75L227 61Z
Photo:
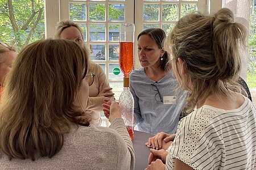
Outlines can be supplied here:
M109 128L114 129L121 136L118 147L117 169L134 169L135 154L133 143L126 130L125 122L122 118L115 118Z

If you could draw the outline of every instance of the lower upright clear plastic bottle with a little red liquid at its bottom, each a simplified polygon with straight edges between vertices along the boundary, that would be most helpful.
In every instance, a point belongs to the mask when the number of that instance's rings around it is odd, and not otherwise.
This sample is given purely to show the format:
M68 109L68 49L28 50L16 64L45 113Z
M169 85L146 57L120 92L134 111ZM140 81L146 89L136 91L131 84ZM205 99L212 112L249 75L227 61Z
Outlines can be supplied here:
M119 97L121 116L125 121L126 129L133 140L133 119L134 119L134 99L130 92L130 78L123 78L123 92Z

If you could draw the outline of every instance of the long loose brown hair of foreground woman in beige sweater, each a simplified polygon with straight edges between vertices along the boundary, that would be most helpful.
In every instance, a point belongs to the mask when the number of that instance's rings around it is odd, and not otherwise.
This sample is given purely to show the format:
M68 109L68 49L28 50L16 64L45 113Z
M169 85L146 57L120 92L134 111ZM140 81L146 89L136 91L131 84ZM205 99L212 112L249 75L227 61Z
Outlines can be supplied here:
M19 53L0 107L2 152L18 159L51 158L72 124L89 125L90 117L73 104L88 67L85 55L68 40L36 41Z

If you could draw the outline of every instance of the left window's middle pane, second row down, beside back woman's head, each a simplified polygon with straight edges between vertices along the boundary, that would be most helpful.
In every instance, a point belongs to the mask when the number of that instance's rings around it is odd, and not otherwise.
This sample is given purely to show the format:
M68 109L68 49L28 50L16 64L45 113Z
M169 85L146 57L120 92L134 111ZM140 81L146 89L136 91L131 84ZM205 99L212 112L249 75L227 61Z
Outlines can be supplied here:
M90 24L90 41L105 41L105 24Z

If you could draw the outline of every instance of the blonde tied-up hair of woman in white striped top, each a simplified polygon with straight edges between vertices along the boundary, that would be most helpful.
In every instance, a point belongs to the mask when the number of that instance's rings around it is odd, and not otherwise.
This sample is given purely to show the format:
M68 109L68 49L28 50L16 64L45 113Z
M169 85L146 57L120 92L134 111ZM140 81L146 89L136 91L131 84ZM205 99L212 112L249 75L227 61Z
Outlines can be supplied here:
M172 54L176 67L178 58L184 61L188 75L185 82L192 83L187 99L189 112L211 94L227 96L229 90L242 90L236 83L241 71L240 42L245 45L246 28L234 23L233 12L228 8L210 16L188 14L176 23L164 47ZM187 84L181 84L184 86Z

